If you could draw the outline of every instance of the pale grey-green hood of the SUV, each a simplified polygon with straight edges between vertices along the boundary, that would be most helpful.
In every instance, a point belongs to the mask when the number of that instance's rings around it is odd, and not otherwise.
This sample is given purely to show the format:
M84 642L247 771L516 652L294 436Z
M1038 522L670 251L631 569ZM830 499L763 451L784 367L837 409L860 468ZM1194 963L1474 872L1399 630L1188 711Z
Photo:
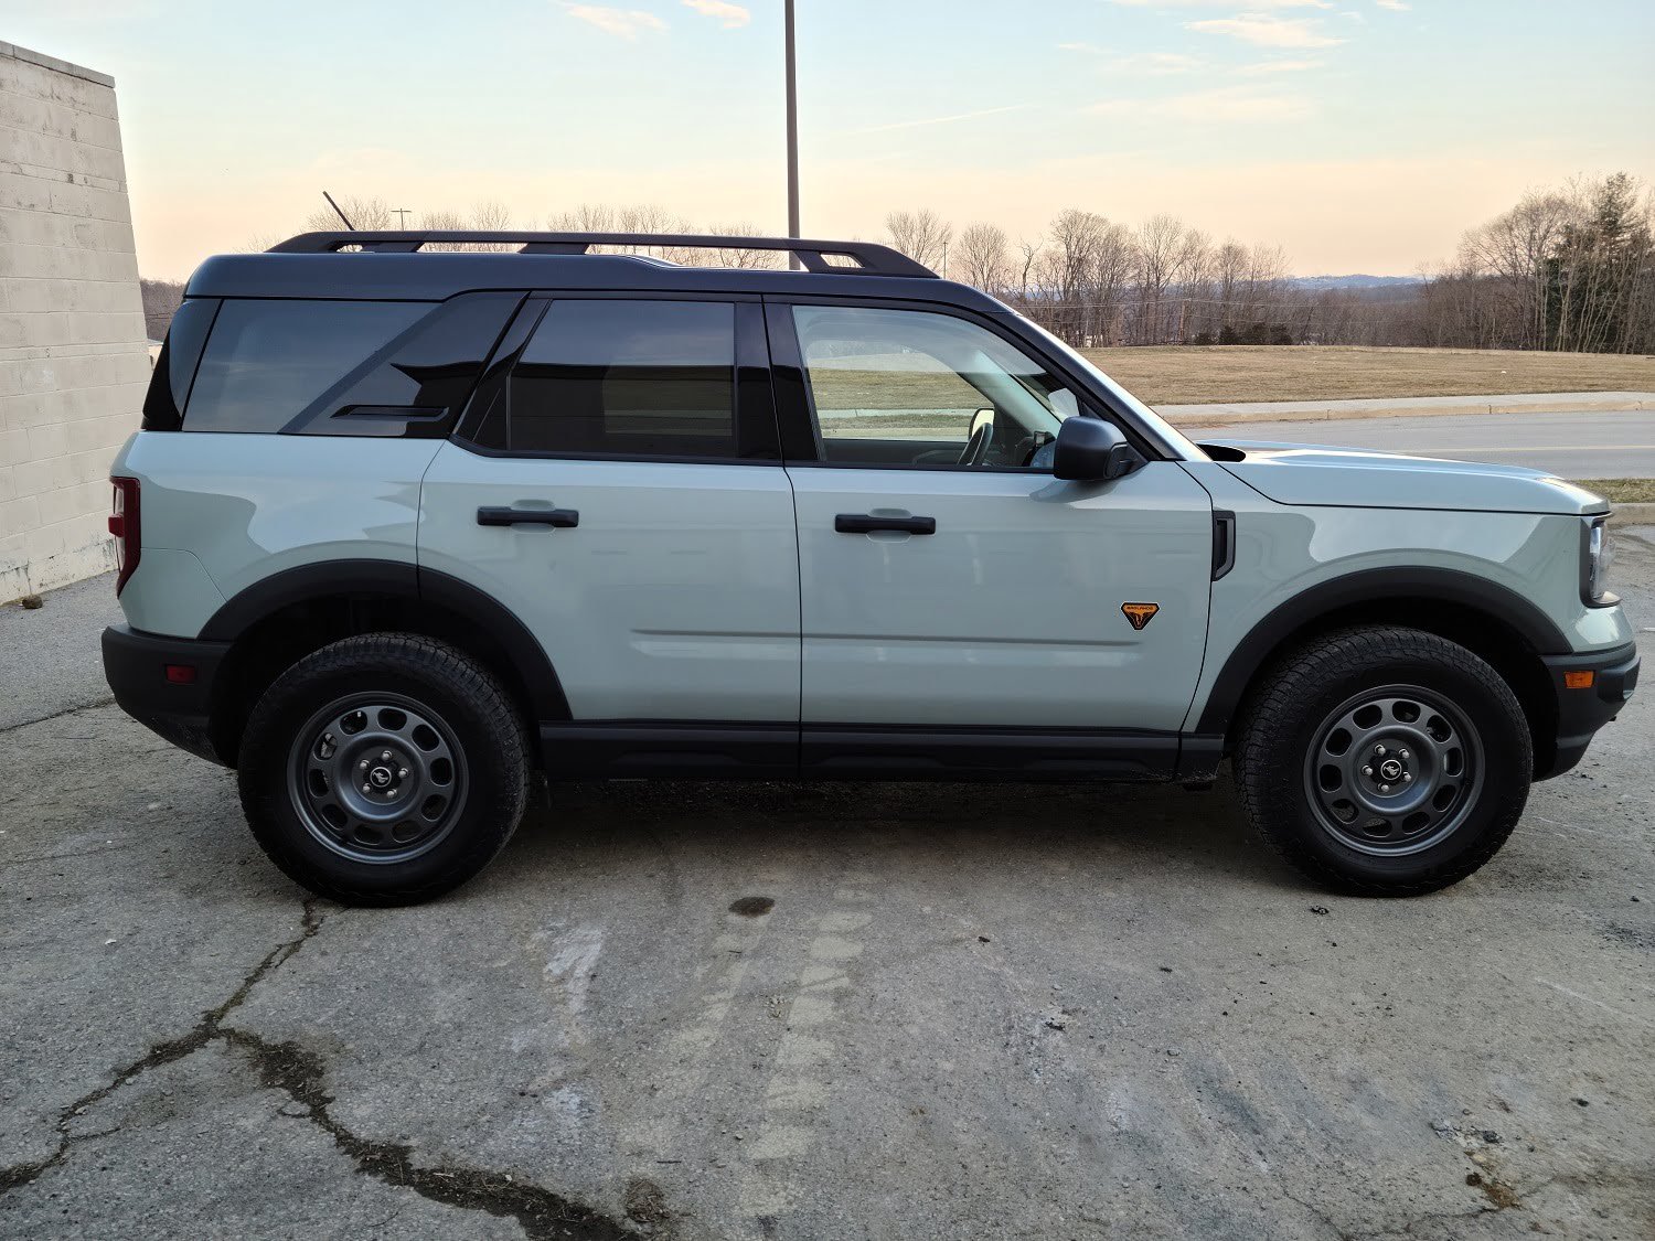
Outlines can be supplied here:
M1600 495L1519 465L1266 440L1225 438L1202 447L1243 483L1279 505L1567 516L1609 510Z

